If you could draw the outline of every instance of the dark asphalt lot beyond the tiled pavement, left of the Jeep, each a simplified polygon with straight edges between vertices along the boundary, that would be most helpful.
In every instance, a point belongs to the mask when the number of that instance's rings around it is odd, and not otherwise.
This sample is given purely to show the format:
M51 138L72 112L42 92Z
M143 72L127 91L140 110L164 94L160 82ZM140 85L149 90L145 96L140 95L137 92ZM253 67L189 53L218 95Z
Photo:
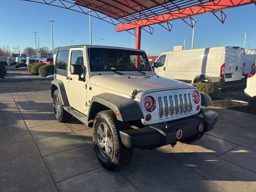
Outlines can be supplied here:
M27 72L27 69L6 67L7 75L0 79L0 93L50 90L52 78L42 78Z

